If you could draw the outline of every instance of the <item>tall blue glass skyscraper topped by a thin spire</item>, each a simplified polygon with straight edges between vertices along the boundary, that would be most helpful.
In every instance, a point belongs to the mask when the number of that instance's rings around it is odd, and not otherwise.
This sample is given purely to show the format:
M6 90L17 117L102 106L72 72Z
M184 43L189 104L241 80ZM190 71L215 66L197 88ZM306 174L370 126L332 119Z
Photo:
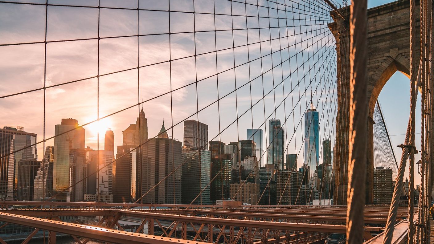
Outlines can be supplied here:
M304 130L304 165L309 166L309 177L313 177L319 161L319 119L312 103L304 114Z

